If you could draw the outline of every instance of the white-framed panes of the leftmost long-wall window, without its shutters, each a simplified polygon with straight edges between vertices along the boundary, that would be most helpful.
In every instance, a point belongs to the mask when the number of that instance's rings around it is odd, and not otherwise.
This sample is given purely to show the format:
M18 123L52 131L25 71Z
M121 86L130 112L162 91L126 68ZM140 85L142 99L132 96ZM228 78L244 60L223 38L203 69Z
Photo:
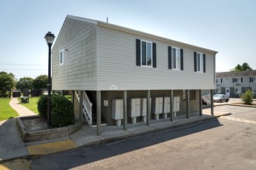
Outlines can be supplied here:
M152 42L141 40L141 65L152 66Z

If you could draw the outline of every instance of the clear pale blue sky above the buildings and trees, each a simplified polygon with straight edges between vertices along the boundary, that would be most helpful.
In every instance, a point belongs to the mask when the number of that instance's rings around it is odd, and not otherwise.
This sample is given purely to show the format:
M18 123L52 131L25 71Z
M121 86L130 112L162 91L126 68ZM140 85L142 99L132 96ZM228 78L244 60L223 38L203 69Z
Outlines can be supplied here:
M47 74L48 31L67 15L109 22L218 51L216 71L248 63L256 70L255 0L2 0L0 71Z

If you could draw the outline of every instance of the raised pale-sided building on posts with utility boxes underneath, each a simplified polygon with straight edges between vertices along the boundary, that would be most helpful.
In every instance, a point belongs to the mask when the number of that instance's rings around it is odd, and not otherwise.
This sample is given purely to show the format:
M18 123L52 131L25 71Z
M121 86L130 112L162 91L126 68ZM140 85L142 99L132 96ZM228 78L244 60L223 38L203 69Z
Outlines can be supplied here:
M67 15L52 53L53 90L72 90L75 111L98 127L102 117L124 128L175 114L189 118L202 114L201 91L215 89L216 53Z

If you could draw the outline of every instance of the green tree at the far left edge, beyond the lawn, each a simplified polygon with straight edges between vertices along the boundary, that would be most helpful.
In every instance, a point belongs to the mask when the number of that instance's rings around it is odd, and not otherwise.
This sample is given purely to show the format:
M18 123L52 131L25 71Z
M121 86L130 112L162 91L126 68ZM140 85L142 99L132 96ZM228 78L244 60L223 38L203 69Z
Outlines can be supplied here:
M7 97L9 90L15 87L15 83L13 73L0 72L0 96Z

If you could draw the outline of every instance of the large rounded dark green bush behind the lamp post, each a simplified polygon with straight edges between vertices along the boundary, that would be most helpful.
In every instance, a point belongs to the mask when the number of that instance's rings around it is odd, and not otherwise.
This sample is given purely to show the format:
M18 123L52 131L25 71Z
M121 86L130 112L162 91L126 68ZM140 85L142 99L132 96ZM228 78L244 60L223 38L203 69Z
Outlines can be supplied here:
M58 94L51 95L50 126L53 128L65 127L74 124L74 105L66 97ZM41 116L47 117L47 96L43 95L38 101L38 111Z

